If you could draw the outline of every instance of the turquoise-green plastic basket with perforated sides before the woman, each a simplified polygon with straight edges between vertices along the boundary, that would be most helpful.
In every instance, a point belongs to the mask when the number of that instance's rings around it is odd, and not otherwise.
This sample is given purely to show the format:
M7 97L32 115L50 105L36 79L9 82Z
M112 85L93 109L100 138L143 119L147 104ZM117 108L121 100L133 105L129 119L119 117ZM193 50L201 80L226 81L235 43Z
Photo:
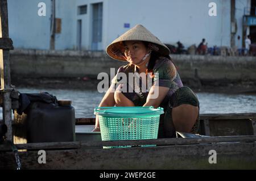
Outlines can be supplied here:
M97 107L102 141L147 140L158 138L159 117L163 108ZM118 146L131 147L131 146ZM117 148L117 147L105 147Z

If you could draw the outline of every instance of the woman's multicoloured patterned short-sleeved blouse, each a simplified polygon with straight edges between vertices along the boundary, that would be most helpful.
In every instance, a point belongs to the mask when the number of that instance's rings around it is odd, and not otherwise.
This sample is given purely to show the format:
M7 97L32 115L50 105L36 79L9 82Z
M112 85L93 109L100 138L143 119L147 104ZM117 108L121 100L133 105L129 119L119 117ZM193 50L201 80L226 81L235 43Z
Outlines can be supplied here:
M183 87L183 83L181 82L179 73L175 71L176 68L172 61L166 57L159 57L158 60L155 62L155 66L153 68L154 72L154 78L152 78L152 84L154 85L158 81L158 86L160 87L168 87L170 90L168 91L167 95L163 99L162 103L160 104L160 107L166 107L166 104L168 103L168 100L171 98L171 95L174 94L174 92L179 89L180 87ZM122 75L120 73L125 73L127 79L122 79ZM124 65L121 66L115 77L112 79L112 84L114 84L115 87L117 87L120 83L123 85L126 84L127 87L129 87L129 73L138 73L138 70L136 69L136 66L134 65ZM119 78L120 77L120 78ZM127 92L123 92L123 94L133 101L135 106L143 106L144 103L146 103L148 92L150 91L150 87L147 87L147 89L144 89L144 91L135 91L136 89L142 89L142 78L139 78L139 83L134 83L133 85L133 92L129 91L127 88ZM132 86L130 86L132 87ZM129 92L128 92L129 91Z

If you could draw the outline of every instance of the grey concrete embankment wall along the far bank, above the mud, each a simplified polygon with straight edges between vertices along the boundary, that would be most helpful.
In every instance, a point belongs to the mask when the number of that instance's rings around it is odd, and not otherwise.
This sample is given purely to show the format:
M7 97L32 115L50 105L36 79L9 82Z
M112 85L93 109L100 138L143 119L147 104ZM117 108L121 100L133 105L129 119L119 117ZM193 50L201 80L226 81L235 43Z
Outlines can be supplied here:
M172 55L182 79L197 76L205 81L256 81L255 57ZM10 52L11 76L92 77L110 73L126 62L109 58L104 52L13 50Z

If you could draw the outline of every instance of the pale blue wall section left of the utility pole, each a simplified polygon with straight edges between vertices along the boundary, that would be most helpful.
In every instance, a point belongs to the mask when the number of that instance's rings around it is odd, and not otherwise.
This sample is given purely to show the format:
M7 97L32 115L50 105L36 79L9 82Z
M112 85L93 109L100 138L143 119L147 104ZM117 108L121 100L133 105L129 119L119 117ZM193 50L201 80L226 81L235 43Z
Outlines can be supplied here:
M15 48L49 49L51 0L46 3L46 16L38 16L40 0L9 0L9 36Z

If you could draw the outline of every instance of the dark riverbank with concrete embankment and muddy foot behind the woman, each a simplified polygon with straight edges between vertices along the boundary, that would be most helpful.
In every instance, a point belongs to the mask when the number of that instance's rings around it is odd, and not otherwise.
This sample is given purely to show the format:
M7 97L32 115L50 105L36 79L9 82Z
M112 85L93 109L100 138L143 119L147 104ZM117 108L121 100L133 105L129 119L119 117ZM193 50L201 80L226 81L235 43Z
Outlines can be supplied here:
M256 57L172 54L185 86L197 92L256 92ZM100 73L114 76L127 62L103 51L10 51L11 81L17 87L97 90ZM113 72L114 70L114 72Z

